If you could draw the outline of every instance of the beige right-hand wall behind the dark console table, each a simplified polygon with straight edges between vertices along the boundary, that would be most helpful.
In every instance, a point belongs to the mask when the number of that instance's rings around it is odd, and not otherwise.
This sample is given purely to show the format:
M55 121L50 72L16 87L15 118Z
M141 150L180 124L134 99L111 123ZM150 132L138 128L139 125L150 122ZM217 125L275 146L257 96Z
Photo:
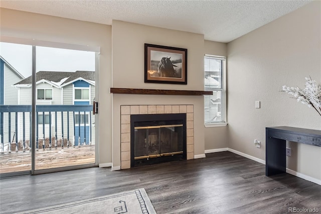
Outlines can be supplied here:
M284 84L304 87L304 77L321 80L320 5L312 2L228 44L229 148L265 160L265 127L321 129L315 110L280 91ZM287 167L321 180L321 148L290 144Z

